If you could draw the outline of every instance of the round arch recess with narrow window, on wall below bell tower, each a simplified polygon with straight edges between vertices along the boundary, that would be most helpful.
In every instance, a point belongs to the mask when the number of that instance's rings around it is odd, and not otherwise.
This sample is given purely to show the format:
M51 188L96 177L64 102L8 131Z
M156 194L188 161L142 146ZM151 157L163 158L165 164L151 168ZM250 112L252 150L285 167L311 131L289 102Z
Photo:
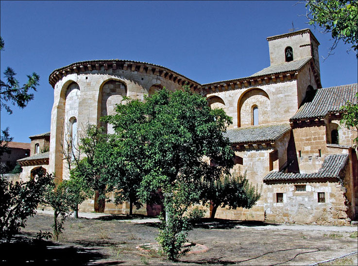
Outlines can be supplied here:
M259 114L262 114L263 111L270 113L270 97L261 88L250 88L240 95L238 100L238 127L252 124L252 111L254 107L258 108ZM269 119L269 116L267 116L267 119ZM267 122L262 119L260 120L260 124Z

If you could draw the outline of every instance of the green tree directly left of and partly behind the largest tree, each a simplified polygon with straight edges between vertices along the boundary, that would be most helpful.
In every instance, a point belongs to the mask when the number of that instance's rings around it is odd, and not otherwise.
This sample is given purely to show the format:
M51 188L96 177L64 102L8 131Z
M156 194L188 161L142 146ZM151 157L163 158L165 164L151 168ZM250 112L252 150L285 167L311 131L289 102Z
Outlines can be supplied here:
M115 193L116 204L129 201L129 214L132 215L133 205L137 208L142 205L138 191L148 141L142 129L148 119L143 102L126 97L124 100L126 104L117 105L117 115L102 118L103 122L113 124L115 130L115 134L110 135L109 141L102 146L102 158L106 158L104 164L109 176L108 190Z

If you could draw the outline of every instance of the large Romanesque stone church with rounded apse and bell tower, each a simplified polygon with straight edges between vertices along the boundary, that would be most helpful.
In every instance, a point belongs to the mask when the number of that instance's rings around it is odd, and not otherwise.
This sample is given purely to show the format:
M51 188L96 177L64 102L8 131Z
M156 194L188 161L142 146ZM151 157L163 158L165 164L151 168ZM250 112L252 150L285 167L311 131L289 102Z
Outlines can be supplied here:
M101 116L114 114L123 96L144 100L162 87L178 90L187 83L212 108L233 117L226 135L236 154L235 168L262 185L262 197L252 209L222 208L216 217L349 224L358 213L352 148L357 132L340 125L340 108L347 100L357 102L357 83L322 88L319 42L309 29L267 40L270 66L215 83L200 84L164 66L124 60L84 61L54 70L49 78L54 88L49 163L39 160L39 166L68 178L61 145L67 134L75 138L87 122L98 124ZM113 133L110 125L107 132ZM93 202L80 210L92 211ZM106 203L104 211L126 213L128 204ZM144 206L135 212L151 211Z

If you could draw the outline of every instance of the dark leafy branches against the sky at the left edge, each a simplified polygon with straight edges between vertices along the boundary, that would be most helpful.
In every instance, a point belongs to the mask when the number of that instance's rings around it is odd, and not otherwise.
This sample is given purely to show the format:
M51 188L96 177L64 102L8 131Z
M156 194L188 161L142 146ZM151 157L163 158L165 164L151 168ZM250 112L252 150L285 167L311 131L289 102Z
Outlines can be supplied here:
M4 40L1 37L0 50L4 50ZM20 108L26 107L27 103L34 99L34 94L30 93L30 90L36 91L40 77L34 72L31 76L27 76L28 82L20 86L15 78L16 73L11 67L6 68L4 76L6 82L0 80L0 110L5 108L6 112L12 114L13 111L7 103L11 102Z

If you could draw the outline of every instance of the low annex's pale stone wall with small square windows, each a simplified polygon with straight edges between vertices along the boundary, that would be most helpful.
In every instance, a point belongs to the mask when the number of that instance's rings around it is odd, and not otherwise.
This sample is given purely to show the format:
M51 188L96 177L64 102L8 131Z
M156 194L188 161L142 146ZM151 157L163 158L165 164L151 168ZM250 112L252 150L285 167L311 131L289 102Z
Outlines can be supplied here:
M307 191L296 191L296 185ZM318 202L318 192L324 192L325 202ZM266 184L266 222L349 225L345 192L337 181ZM277 193L283 193L282 203L276 202Z

